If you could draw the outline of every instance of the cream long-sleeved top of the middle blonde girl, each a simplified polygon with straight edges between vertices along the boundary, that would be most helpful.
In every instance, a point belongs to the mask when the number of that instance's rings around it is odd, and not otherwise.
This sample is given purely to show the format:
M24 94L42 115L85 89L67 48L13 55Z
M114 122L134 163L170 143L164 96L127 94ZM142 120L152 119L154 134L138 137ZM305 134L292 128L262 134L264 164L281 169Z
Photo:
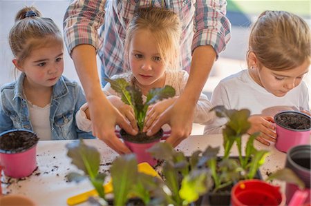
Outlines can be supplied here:
M124 78L126 81L131 81L132 74L125 73L114 75L111 79ZM176 96L180 96L180 94L185 90L185 86L187 84L189 78L189 74L185 70L167 70L165 77L165 85L171 85L176 90ZM115 95L120 96L111 88L110 83L107 83L103 89L103 92L106 96ZM146 99L146 96L143 96L143 99ZM91 121L86 119L86 115L84 110L86 109L86 105L83 105L80 110L76 114L77 127L79 130L85 132L91 132ZM207 96L203 93L200 94L200 98L198 99L198 103L196 105L196 111L194 114L194 123L207 124L209 121L215 119L214 113L210 112L213 106L207 99ZM164 130L166 131L166 130Z

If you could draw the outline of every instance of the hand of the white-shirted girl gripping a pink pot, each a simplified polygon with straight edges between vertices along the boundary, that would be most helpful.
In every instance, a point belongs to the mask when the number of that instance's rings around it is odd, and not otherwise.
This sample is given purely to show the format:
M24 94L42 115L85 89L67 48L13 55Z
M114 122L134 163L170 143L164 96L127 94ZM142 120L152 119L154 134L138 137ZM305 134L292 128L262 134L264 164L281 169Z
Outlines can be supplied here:
M251 123L251 127L247 131L248 134L253 134L254 132L261 132L257 136L256 140L263 143L264 145L270 145L268 141L276 141L276 133L274 126L274 119L272 116L250 116L248 121Z

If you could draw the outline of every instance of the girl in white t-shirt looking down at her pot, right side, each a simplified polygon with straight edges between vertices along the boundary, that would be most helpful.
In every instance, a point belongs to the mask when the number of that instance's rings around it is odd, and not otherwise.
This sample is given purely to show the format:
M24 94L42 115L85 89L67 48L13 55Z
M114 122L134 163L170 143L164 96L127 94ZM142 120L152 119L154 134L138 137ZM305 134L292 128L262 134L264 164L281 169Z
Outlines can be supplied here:
M310 67L310 28L301 17L284 11L265 11L249 36L248 70L228 76L215 88L211 103L251 112L249 134L275 142L274 114L301 110L310 115L308 87L302 81ZM205 134L222 131L225 119L205 126Z

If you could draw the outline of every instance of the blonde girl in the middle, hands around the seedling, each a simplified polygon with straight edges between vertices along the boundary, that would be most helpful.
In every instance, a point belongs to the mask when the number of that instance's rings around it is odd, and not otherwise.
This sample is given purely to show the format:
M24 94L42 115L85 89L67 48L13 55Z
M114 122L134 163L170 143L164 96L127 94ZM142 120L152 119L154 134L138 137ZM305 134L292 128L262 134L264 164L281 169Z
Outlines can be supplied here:
M112 79L124 78L131 82L142 91L144 99L149 90L154 87L171 85L176 90L174 98L160 101L149 107L143 132L147 132L160 114L176 101L187 83L188 74L180 70L179 65L181 32L178 16L162 8L140 9L135 13L126 30L124 58L129 72L115 75ZM131 122L132 127L138 130L133 109L121 101L110 83L104 87L104 93ZM87 105L84 105L77 113L77 123L81 130L91 131L91 121L84 114L86 108ZM210 108L211 103L207 96L201 94L196 106L194 122L204 124L213 119L213 115L209 114Z

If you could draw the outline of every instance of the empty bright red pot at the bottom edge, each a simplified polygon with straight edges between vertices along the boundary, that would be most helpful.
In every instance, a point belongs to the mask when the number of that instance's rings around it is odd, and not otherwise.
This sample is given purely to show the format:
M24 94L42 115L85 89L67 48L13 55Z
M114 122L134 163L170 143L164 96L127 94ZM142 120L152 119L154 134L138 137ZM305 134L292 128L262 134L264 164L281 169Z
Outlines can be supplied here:
M231 191L232 206L246 205L285 205L285 194L275 187L260 180L240 181Z

